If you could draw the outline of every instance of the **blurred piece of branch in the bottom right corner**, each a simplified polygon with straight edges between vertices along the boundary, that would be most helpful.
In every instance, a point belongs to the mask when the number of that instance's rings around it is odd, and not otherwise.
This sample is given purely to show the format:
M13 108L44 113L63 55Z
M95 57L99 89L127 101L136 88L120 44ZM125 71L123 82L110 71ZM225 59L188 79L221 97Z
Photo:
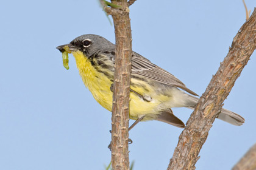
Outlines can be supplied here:
M256 169L256 143L241 158L232 170L255 170Z

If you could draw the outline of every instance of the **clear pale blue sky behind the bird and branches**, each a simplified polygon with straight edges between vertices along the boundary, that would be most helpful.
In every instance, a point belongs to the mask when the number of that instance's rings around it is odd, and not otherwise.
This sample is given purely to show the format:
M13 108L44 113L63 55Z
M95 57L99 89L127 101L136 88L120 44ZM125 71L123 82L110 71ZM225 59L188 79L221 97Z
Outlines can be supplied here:
M98 1L2 1L0 9L0 169L104 169L111 112L85 88L73 56L66 70L55 49L87 33L115 43ZM130 18L132 49L201 95L246 14L242 0L138 0ZM254 53L224 102L246 122L216 120L197 169L230 169L256 142L255 66ZM191 112L174 109L184 122ZM158 121L139 123L129 136L134 169L166 169L180 132Z

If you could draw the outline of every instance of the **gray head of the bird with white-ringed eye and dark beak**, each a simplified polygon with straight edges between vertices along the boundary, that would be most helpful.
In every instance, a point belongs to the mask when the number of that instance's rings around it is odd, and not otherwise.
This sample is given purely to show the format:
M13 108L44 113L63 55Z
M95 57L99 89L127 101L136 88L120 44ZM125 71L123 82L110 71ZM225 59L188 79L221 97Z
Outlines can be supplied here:
M115 44L103 38L102 36L94 34L81 35L75 38L69 44L58 46L56 47L56 49L60 50L60 52L64 52L65 50L63 49L63 47L65 46L68 46L69 50L71 51L80 50L81 52L84 52L85 55L88 57L101 50L115 50Z

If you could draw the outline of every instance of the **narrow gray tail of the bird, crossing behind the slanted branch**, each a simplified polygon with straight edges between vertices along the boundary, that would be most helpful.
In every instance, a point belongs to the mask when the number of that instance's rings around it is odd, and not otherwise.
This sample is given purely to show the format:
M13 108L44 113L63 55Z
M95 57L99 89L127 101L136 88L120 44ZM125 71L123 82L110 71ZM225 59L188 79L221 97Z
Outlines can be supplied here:
M194 103L197 103L199 98L192 97L190 96L190 100L192 100ZM188 108L190 109L195 109L196 104L194 106L189 106ZM218 119L226 121L227 123L236 125L236 126L241 126L244 123L244 118L241 117L240 115L236 114L235 112L232 112L230 110L221 109L221 113L219 113Z

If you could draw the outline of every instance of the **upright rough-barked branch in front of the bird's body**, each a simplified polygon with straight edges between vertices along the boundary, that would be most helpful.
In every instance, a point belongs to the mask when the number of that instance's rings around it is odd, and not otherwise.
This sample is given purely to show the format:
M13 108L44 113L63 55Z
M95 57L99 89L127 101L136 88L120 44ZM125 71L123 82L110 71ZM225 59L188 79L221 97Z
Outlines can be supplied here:
M121 6L121 9L118 9L119 12L112 13L116 35L112 107L112 168L118 170L129 169L128 128L132 33L127 1L113 0L111 2Z

